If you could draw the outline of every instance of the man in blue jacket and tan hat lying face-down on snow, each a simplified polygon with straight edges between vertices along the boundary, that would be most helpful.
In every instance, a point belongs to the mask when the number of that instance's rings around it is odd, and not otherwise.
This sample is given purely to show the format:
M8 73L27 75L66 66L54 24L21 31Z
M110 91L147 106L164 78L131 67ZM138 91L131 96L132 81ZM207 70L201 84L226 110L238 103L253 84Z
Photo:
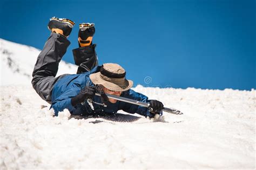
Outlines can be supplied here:
M51 35L46 41L43 50L37 58L32 73L32 85L39 96L51 104L55 115L68 108L71 114L112 114L118 110L128 113L138 113L145 117L154 117L161 114L163 104L157 100L148 100L146 96L130 88L131 80L125 78L125 70L118 64L106 63L98 66L95 52L96 44L92 44L95 33L94 24L83 23L79 25L79 48L73 50L77 74L63 74L55 77L58 65L70 45L67 37L75 25L69 19L51 18L48 28ZM97 86L102 86L101 96L95 96ZM104 94L113 94L125 98L150 103L152 111L148 108L108 99ZM91 104L86 99L92 100ZM103 103L107 106L104 107Z

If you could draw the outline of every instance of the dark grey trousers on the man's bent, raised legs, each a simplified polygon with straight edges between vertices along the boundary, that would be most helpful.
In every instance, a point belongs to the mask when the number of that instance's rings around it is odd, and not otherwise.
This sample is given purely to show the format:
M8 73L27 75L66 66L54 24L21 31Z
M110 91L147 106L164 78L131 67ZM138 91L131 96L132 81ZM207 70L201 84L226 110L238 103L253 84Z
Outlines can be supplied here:
M31 83L39 96L49 104L51 104L51 92L54 84L60 78L68 75L63 74L56 77L59 62L69 45L68 39L57 33L51 33L43 50L37 57ZM93 44L73 50L75 64L78 65L77 73L90 71L93 67L98 66L95 47L96 44Z

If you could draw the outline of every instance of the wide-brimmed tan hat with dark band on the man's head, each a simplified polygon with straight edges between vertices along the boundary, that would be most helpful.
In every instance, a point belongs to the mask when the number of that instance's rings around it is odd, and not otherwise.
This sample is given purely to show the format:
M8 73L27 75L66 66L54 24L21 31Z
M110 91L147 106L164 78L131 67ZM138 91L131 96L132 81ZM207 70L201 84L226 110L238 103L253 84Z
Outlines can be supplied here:
M125 78L125 70L118 64L106 63L97 73L90 74L90 79L95 85L103 85L112 91L126 91L131 89L132 80Z

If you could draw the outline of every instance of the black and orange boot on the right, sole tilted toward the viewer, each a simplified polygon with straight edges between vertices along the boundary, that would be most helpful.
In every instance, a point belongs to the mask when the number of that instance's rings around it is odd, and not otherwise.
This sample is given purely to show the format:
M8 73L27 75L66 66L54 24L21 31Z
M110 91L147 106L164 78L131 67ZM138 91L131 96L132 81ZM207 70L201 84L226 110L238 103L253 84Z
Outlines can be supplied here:
M79 47L91 45L92 37L95 34L95 25L93 23L79 24L78 44Z

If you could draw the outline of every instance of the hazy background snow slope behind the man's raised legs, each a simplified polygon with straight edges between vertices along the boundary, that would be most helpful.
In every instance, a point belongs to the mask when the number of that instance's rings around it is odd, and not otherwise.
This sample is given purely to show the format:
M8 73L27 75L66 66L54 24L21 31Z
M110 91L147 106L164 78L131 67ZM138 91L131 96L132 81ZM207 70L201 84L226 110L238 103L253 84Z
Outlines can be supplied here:
M0 38L1 85L30 85L33 67L39 53L40 50L34 47L9 42ZM76 73L76 70L76 65L62 60L59 63L57 76L64 73L73 74Z

